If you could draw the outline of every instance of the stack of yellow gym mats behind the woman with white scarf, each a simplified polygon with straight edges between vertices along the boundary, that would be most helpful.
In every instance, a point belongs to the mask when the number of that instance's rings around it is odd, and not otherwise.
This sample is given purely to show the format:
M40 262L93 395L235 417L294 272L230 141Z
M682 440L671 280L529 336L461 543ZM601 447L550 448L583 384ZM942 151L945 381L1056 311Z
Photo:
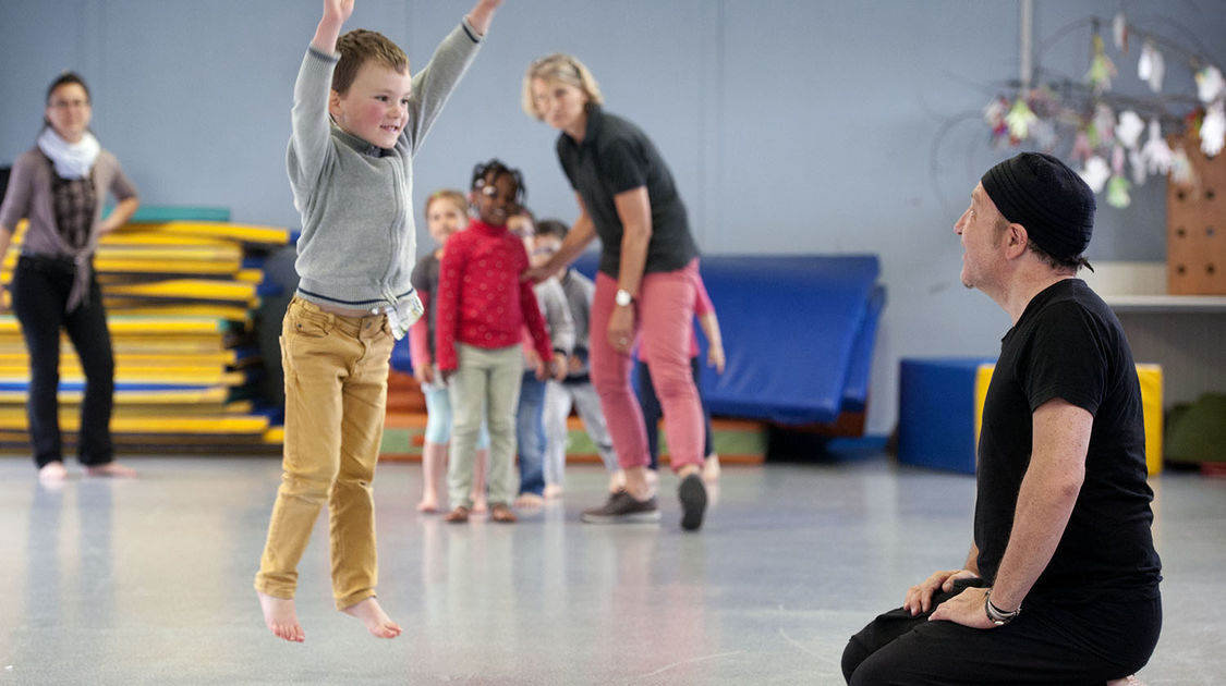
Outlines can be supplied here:
M23 233L25 222L0 270L6 284ZM280 408L257 388L255 310L280 290L266 283L264 260L289 240L283 228L230 223L227 209L180 207L142 207L102 240L94 268L115 352L116 451L280 451ZM5 305L0 450L25 452L29 361L7 294ZM66 337L60 350L60 429L71 454L85 377Z

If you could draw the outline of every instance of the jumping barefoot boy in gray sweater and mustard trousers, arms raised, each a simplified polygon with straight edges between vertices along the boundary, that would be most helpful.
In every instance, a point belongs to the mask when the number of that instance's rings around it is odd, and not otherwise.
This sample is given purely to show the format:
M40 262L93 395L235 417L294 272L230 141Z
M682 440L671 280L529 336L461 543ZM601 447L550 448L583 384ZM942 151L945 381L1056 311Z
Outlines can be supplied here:
M401 628L375 599L374 500L394 336L421 316L412 157L476 56L501 0L476 6L411 77L373 31L340 36L353 0L325 0L294 83L287 167L302 213L300 282L282 326L286 436L281 488L255 589L280 638L305 636L298 561L329 503L332 595L380 638Z

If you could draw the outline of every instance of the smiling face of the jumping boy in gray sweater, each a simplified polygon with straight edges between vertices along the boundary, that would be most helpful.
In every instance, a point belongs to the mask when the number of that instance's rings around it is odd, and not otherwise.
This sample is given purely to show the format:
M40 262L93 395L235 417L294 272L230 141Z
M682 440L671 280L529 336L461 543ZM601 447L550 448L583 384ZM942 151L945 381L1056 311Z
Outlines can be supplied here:
M381 147L396 147L408 123L413 80L387 65L367 60L345 94L332 91L329 111L347 134Z

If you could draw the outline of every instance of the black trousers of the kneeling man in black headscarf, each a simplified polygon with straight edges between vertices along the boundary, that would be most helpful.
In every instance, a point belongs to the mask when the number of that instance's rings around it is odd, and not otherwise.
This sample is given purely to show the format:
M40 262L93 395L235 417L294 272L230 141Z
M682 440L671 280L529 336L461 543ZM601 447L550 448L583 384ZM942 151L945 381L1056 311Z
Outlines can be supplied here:
M961 593L933 595L933 609ZM1138 597L1139 595L1139 597ZM1005 626L978 630L928 621L897 608L878 616L843 649L847 684L1096 685L1135 673L1149 660L1162 627L1162 603L1149 594L1101 593L1065 603L1031 594Z

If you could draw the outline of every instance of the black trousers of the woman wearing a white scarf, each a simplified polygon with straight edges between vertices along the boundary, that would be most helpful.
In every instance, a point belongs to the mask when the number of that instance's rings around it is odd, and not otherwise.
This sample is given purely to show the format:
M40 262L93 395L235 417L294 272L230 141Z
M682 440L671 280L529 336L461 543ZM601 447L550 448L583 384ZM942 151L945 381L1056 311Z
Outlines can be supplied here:
M69 334L85 371L77 453L86 466L114 459L110 413L115 394L115 359L107 330L102 289L91 279L88 301L65 312L75 267L71 261L21 256L12 277L12 310L29 352L29 439L34 463L64 458L60 437L60 328Z

